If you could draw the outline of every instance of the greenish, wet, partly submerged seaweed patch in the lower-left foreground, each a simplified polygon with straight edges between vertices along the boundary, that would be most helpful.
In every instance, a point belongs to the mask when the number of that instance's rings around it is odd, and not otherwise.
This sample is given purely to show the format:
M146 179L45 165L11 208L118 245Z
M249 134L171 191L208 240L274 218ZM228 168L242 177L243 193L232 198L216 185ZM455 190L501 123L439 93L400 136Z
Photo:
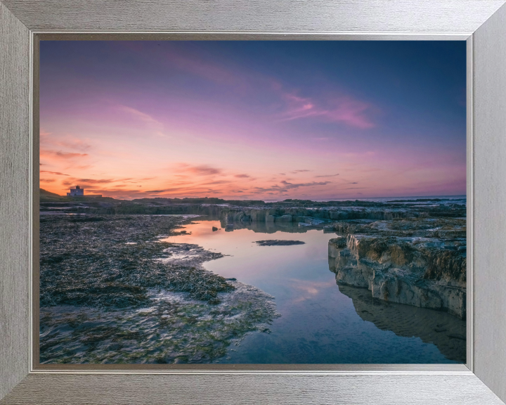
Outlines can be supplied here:
M150 290L145 307L41 308L41 364L212 363L249 332L269 333L273 297L231 282L219 304Z

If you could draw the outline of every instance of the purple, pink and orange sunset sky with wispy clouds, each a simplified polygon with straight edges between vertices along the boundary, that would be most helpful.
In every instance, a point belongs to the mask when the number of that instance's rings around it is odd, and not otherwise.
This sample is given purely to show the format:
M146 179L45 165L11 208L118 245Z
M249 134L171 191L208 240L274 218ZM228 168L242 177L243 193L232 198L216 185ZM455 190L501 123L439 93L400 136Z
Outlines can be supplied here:
M465 194L465 41L41 41L41 188Z

